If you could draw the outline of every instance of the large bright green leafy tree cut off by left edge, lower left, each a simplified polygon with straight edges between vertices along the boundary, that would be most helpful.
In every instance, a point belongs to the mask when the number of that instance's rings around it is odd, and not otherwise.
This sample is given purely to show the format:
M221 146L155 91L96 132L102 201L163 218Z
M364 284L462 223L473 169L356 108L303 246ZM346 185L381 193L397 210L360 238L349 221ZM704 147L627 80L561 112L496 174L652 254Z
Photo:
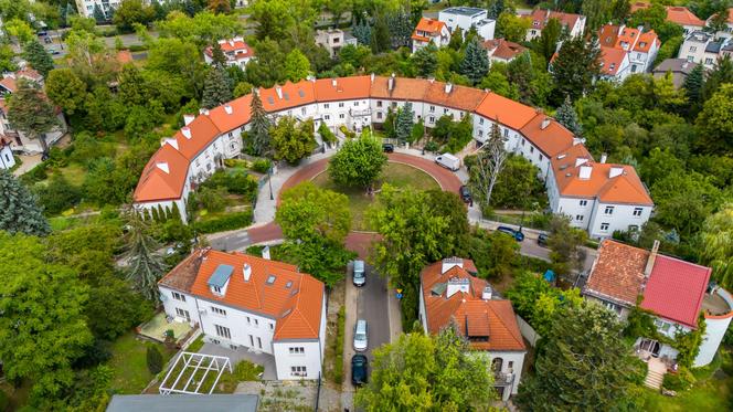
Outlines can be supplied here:
M68 267L47 263L38 237L0 232L0 249L3 372L30 380L38 405L74 383L72 365L92 344L82 311L88 288Z

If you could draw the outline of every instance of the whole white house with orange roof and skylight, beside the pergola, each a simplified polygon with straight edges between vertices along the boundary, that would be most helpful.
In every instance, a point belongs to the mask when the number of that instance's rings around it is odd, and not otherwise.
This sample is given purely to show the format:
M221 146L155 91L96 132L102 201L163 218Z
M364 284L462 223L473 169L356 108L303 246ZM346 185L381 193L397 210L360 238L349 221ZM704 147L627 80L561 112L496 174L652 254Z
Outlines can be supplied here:
M272 355L277 380L318 379L326 348L326 288L294 265L195 250L158 283L166 314L204 341Z

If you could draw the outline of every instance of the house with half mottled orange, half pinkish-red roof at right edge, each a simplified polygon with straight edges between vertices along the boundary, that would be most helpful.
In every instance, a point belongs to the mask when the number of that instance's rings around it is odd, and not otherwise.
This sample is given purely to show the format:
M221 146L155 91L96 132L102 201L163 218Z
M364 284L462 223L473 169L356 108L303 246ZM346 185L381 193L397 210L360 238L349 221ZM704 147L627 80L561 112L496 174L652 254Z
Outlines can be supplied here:
M658 249L659 242L647 251L603 241L583 295L618 314L622 320L639 305L654 315L657 330L670 339L697 329L702 313L705 334L693 366L709 365L733 318L733 297L709 285L710 267L666 256ZM671 368L678 356L672 346L650 337L638 337L634 347L642 359L658 358Z

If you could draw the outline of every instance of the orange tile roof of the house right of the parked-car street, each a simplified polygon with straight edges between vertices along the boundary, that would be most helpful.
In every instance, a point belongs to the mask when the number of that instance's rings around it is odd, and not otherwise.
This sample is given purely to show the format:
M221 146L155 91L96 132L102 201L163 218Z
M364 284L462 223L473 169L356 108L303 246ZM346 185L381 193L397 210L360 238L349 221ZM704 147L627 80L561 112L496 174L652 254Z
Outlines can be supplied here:
M454 266L443 274L443 262L436 262L421 273L428 331L437 334L453 321L465 336L488 335L488 341L471 341L474 349L524 351L527 348L511 303L506 299L484 300L481 294L488 283L468 273L476 271L472 261L463 262L464 268ZM432 292L435 285L452 278L468 279L469 293L457 292L448 297L446 290L440 295Z

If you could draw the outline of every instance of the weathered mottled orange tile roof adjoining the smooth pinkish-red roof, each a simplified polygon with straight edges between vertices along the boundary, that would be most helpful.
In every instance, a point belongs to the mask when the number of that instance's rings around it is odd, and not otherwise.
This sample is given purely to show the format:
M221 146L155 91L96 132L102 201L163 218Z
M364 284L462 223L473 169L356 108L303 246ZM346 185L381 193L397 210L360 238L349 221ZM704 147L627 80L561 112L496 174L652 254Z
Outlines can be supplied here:
M613 240L604 240L598 247L584 293L636 305L644 284L644 270L649 252Z

